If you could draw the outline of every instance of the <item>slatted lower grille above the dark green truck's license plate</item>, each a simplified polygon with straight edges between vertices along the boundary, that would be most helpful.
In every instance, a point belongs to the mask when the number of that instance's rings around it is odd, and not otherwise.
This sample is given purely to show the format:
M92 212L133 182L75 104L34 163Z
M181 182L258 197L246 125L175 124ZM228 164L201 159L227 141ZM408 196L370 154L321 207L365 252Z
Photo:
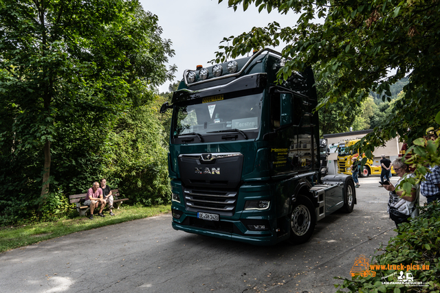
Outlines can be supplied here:
M220 215L233 215L236 206L236 191L206 191L184 189L185 204L188 211L205 211Z

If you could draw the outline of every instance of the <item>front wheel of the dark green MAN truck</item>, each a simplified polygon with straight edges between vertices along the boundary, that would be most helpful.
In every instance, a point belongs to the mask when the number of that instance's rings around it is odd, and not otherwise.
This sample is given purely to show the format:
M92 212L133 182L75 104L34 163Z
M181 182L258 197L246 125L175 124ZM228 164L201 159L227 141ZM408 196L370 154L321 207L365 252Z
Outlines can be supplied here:
M305 196L298 196L292 205L290 213L290 244L302 244L307 242L314 233L316 215L314 205Z

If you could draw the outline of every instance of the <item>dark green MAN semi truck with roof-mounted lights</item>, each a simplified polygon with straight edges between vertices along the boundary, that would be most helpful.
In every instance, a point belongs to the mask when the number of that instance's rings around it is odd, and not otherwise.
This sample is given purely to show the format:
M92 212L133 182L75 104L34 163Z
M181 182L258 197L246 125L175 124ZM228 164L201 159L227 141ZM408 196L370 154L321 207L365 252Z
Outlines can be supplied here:
M272 245L307 242L356 202L351 176L320 173L311 69L281 84L281 54L186 70L173 93L168 172L173 228Z

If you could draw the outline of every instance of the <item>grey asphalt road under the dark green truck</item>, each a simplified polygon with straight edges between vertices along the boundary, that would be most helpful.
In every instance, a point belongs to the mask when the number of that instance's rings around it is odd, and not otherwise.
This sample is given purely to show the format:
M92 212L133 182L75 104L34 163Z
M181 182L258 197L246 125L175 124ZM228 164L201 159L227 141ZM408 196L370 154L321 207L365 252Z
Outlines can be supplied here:
M1 253L0 292L335 292L333 277L350 278L356 257L396 235L379 180L360 178L353 213L321 220L306 244L203 237L161 215Z

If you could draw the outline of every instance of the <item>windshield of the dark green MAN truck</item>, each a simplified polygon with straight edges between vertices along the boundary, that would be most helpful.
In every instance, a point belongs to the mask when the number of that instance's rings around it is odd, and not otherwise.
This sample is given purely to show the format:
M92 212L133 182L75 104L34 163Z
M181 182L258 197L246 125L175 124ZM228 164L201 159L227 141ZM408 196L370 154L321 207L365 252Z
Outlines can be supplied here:
M222 130L259 132L263 95L202 99L202 104L176 105L173 134L208 134ZM214 133L213 133L214 134Z

